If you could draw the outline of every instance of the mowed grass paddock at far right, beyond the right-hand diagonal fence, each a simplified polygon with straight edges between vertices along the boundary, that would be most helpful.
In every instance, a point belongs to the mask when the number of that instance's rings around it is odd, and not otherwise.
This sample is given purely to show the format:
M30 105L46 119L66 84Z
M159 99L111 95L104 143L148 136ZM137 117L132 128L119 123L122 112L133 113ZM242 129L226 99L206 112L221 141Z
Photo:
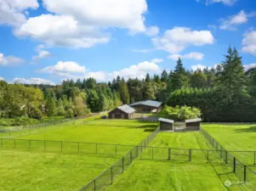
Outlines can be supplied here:
M256 125L203 124L202 127L225 149L256 151ZM254 165L254 152L230 152L246 165Z

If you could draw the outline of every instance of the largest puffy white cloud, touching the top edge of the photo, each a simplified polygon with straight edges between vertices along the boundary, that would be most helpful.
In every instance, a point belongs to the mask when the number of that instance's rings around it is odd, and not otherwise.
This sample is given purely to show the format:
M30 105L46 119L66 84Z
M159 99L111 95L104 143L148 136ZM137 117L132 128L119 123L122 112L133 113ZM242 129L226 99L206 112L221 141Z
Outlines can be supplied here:
M31 37L52 46L91 48L111 40L108 29L156 36L157 26L146 27L145 0L43 0L49 13L26 20L17 27L18 37Z

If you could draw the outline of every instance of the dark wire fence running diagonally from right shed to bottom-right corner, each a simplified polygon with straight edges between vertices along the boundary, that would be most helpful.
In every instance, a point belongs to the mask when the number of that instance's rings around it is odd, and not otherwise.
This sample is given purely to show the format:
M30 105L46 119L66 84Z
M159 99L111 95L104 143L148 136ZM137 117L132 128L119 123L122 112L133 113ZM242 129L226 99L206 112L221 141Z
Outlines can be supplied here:
M200 128L200 132L208 140L215 149L216 153L219 154L220 158L232 167L233 172L236 174L242 182L250 184L251 187L256 188L256 172L251 167L246 166L241 160L238 160L230 151L224 149L208 132L203 128ZM235 151L238 152L238 151Z

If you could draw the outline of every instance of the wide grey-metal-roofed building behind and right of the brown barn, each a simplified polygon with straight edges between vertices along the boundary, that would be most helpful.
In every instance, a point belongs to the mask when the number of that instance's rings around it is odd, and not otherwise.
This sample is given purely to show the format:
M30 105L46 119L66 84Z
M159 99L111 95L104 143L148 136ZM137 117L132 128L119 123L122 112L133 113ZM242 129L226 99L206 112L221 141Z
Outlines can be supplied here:
M136 113L158 113L161 110L162 102L146 100L130 104L136 110Z

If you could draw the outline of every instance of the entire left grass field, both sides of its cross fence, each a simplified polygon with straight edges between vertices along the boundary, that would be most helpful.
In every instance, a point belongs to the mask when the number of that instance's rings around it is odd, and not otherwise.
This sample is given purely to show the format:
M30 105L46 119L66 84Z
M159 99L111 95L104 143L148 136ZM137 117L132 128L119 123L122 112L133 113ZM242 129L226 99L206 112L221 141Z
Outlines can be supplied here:
M156 126L139 121L79 120L52 126L50 131L1 139L3 146L9 145L0 150L1 190L78 190L131 149L100 143L137 144ZM78 154L78 144L73 142L98 143L97 154L96 144L79 143ZM30 151L26 152L28 147ZM66 154L73 149L76 154ZM104 154L110 151L112 156Z

